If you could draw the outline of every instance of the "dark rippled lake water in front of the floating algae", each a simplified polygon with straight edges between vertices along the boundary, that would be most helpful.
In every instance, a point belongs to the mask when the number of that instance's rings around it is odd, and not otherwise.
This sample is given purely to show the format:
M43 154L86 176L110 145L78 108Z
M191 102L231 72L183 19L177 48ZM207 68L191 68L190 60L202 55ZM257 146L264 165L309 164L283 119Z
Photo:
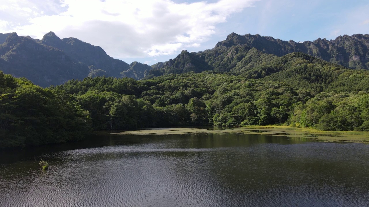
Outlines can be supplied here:
M98 136L0 153L0 206L369 206L369 145ZM38 161L49 162L42 171Z

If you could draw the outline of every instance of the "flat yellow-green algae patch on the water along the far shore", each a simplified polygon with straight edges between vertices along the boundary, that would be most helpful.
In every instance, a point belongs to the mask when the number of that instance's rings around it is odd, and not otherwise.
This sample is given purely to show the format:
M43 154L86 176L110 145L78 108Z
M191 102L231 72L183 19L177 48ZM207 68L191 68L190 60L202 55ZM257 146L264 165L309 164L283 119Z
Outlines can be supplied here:
M355 142L355 143L369 143L369 136L366 134L354 135L345 133L321 133L319 132L306 132L294 129L279 129L279 128L148 128L135 131L122 131L119 135L165 135L165 134L187 134L187 133L203 133L203 134L225 134L225 133L241 133L241 134L259 134L268 136L286 136L296 138L308 138L311 141L333 141L333 142Z

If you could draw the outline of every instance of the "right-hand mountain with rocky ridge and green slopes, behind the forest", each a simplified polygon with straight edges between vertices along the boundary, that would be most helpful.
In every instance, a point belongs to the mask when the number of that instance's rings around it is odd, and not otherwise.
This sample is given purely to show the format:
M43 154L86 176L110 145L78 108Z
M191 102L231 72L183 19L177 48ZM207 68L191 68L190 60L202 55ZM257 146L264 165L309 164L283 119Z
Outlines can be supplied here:
M318 38L313 42L292 40L287 42L258 34L232 33L224 41L218 42L213 49L197 53L182 51L173 60L160 63L160 66L153 65L153 70L149 72L148 77L202 70L242 74L254 67L265 66L276 57L294 52L302 52L351 69L368 70L368 47L368 34L338 36L330 41ZM192 67L189 68L189 65Z

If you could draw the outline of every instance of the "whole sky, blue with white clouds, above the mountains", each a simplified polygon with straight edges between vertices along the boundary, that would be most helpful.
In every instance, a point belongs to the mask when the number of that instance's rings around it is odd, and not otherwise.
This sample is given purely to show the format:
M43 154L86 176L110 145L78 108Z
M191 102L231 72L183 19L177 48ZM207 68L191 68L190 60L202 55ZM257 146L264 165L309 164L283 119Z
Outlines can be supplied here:
M0 33L53 31L152 65L232 32L296 42L369 34L368 11L368 0L0 0Z

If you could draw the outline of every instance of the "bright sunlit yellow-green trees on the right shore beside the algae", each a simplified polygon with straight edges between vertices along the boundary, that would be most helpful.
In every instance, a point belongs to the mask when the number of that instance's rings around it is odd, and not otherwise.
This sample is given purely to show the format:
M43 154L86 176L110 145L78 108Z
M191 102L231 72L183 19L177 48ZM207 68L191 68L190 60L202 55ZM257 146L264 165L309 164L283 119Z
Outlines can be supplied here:
M305 104L295 104L289 124L331 131L369 131L369 94L322 92Z

